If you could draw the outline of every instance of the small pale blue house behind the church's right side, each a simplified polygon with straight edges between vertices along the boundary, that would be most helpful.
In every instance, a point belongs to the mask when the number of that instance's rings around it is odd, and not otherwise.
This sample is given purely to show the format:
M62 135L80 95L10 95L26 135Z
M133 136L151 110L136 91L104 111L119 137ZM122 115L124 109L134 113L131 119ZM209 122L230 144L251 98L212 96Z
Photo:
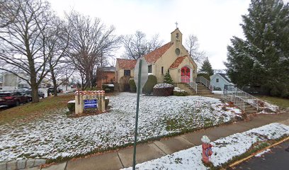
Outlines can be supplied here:
M227 74L216 73L210 77L210 83L214 86L214 89L223 90L225 85L234 85L227 76Z

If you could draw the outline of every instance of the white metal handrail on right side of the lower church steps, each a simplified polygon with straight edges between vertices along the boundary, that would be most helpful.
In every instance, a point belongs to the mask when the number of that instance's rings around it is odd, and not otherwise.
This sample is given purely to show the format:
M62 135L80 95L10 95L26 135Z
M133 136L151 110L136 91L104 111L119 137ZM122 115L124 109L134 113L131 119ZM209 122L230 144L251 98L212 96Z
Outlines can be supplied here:
M248 103L249 105L253 106L258 110L259 108L259 98L256 98L255 96L252 96L251 94L247 94L245 91L242 91L241 89L238 89L236 86L225 86L225 89L223 91L223 94L234 94L234 96L237 96L239 98L242 98L244 102Z

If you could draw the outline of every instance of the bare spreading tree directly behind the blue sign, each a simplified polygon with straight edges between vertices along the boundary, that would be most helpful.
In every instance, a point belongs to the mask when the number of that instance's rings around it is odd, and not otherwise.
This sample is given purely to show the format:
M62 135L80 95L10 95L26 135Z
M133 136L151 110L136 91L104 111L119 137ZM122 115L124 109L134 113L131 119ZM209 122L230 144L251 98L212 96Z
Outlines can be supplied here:
M113 34L113 26L106 28L99 18L91 19L75 11L66 18L71 28L67 55L81 75L82 89L92 87L96 82L96 68L118 49L120 37Z

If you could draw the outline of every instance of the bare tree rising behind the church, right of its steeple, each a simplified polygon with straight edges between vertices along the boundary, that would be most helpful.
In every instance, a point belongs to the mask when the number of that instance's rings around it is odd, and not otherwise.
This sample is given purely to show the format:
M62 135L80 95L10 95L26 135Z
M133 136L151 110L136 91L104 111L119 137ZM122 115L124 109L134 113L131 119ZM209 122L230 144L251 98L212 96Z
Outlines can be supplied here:
M186 48L188 53L196 62L200 63L205 60L205 52L199 50L198 38L196 35L188 35L186 38Z

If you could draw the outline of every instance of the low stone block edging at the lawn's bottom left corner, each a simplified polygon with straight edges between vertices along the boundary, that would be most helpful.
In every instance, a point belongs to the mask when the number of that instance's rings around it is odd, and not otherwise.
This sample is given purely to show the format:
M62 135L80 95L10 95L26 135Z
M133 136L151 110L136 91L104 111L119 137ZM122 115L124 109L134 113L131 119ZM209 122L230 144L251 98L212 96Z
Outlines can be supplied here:
M10 162L0 162L0 170L28 169L45 164L45 159L21 159Z

